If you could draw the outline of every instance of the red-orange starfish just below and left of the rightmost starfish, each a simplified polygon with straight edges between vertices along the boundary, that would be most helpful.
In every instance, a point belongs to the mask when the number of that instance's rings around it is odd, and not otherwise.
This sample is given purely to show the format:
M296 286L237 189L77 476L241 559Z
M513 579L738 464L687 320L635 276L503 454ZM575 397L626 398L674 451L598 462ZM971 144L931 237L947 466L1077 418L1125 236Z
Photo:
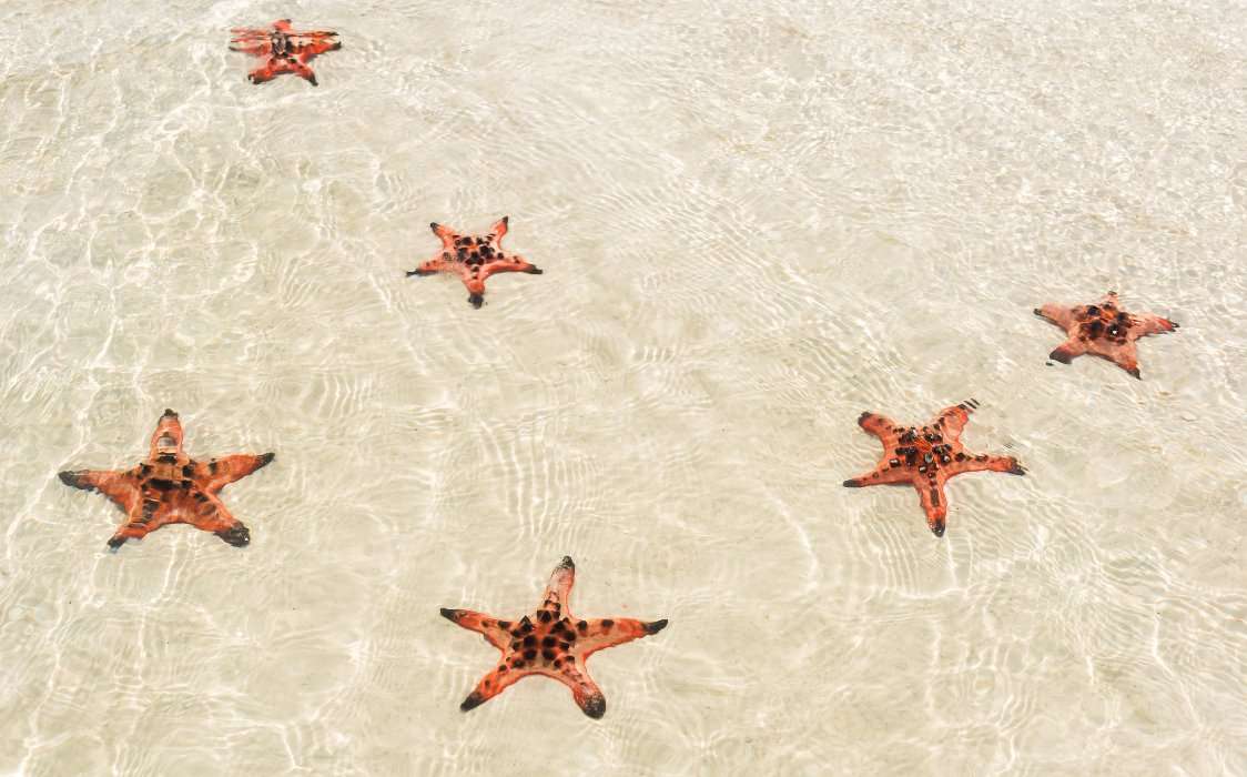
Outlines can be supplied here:
M976 456L961 446L961 429L978 407L975 400L968 399L944 408L934 423L922 429L900 427L882 415L863 413L858 418L858 425L883 443L883 459L874 471L845 480L844 485L855 489L883 483L913 484L923 501L927 525L935 536L944 536L944 516L948 515L944 484L949 478L985 469L1013 475L1026 474L1013 456Z

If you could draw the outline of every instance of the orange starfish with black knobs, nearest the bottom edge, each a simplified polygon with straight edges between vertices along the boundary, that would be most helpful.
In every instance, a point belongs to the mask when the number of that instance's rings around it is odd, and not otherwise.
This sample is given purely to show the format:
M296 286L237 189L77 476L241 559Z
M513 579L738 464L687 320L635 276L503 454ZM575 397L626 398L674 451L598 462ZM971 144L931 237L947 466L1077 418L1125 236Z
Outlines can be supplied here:
M606 715L606 698L585 666L589 656L604 647L657 634L667 626L667 620L648 624L630 617L576 620L567 607L575 580L576 565L571 556L564 556L550 575L541 606L532 617L525 615L519 621L500 621L471 610L441 609L444 617L484 635L486 642L503 651L501 661L481 677L459 705L460 710L479 707L529 675L545 675L571 688L572 698L589 717Z

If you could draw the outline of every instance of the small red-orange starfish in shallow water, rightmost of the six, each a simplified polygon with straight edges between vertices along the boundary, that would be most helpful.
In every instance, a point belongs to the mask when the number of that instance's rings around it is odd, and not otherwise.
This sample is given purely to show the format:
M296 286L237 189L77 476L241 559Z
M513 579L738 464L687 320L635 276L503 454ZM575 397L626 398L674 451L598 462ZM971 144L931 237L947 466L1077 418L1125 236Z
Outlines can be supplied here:
M1064 327L1069 339L1057 345L1047 358L1069 364L1074 357L1090 353L1117 364L1139 378L1139 349L1135 340L1148 334L1177 329L1167 318L1145 313L1132 316L1117 307L1117 292L1109 292L1099 304L1080 304L1070 308L1045 304L1035 308L1035 316Z

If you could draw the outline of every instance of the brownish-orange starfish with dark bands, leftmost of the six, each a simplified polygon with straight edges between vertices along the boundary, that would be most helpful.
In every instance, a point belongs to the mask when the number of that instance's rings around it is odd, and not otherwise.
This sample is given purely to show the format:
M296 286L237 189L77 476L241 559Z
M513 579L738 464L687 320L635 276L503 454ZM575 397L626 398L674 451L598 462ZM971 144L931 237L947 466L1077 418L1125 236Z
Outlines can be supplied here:
M147 460L127 470L60 473L65 485L100 491L126 514L128 520L108 540L117 550L126 540L143 539L166 524L191 524L211 531L236 548L251 543L251 531L229 514L217 494L273 460L273 454L236 454L207 463L182 453L182 424L177 413L165 410L152 433Z

